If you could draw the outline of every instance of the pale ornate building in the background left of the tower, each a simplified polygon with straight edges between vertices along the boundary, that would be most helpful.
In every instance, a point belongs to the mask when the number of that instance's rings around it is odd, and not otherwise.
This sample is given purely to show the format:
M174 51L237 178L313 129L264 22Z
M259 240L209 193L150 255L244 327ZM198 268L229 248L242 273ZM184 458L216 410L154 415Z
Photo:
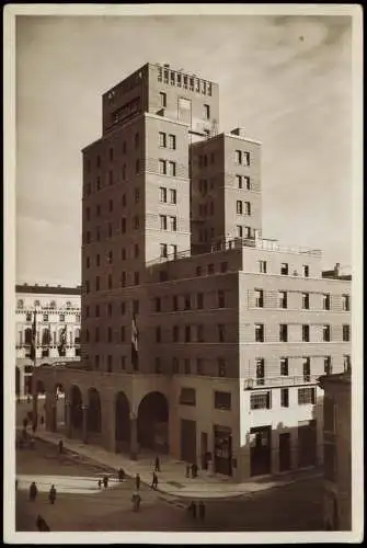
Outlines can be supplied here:
M15 392L25 396L32 393L35 366L80 359L81 287L22 284L15 293ZM36 353L32 359L34 315Z

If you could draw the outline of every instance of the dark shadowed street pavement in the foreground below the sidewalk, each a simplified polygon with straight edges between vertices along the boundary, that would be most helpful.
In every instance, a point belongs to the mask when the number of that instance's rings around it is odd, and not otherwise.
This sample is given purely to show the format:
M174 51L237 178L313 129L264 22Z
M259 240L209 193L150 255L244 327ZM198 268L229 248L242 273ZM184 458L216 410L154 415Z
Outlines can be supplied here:
M110 470L111 471L111 470ZM55 445L36 439L34 449L16 452L16 473L32 477L36 483L45 476L55 478L57 500L49 504L47 492L39 491L36 502L27 492L16 491L16 530L34 532L41 514L54 532L280 532L321 530L322 482L320 478L293 482L250 496L206 500L205 521L193 520L188 500L160 493L142 484L141 511L133 512L134 479L113 482L111 488L93 492L62 492L65 482L74 478L103 477L108 468L90 459L76 461L72 455L59 456ZM56 478L60 478L56 479ZM65 479L62 479L65 478ZM61 481L59 484L58 481Z

